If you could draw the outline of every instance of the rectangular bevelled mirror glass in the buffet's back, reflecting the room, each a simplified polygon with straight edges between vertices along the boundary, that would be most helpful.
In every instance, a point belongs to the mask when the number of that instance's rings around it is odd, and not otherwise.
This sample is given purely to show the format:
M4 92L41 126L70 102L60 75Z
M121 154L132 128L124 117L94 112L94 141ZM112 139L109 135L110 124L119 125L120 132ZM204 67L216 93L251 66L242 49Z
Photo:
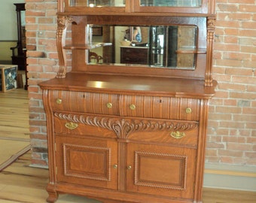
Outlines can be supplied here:
M90 64L144 65L194 70L197 26L93 26L91 43L109 46L90 50Z

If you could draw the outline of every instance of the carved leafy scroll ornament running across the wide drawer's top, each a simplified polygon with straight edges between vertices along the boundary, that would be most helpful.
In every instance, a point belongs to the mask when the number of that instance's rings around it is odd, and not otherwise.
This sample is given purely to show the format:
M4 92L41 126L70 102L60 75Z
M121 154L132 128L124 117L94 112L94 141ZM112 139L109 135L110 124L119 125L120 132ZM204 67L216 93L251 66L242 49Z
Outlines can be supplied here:
M179 122L175 120L139 120L117 117L101 117L89 115L75 115L54 113L54 117L72 123L82 123L88 126L96 126L114 131L118 138L128 138L133 132L156 132L156 131L190 131L198 127L197 122Z

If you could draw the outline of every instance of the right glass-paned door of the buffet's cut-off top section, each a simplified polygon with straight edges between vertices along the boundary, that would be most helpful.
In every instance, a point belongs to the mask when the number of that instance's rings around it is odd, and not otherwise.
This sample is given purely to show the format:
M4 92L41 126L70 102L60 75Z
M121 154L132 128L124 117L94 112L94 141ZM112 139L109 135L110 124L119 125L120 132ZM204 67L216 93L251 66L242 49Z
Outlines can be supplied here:
M178 12L207 14L208 1L209 0L140 0L135 1L134 4L136 12Z

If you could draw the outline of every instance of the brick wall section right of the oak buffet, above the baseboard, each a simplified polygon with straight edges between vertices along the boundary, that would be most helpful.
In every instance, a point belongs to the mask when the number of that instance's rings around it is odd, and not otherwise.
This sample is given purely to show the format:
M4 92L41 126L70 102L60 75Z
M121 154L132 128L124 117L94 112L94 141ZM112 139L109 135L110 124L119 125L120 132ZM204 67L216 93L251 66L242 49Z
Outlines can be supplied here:
M256 1L217 0L206 162L256 166Z

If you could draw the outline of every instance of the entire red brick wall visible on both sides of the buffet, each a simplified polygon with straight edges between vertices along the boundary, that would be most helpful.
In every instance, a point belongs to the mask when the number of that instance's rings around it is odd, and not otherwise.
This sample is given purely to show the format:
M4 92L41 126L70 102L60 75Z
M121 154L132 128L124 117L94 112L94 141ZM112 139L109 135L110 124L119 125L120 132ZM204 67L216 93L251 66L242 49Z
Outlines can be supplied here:
M32 165L47 165L38 83L57 71L56 0L26 0ZM217 0L214 78L206 162L256 167L256 1Z

